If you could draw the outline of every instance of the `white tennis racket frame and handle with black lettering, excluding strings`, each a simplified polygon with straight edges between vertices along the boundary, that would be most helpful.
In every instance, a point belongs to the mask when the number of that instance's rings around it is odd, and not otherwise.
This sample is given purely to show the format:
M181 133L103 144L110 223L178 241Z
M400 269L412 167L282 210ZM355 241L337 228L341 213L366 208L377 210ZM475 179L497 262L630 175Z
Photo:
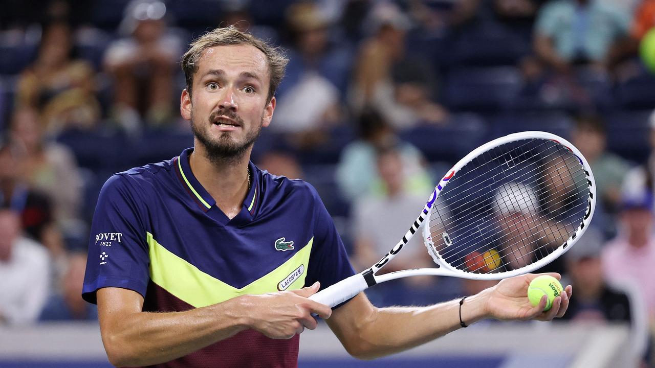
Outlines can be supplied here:
M438 249L436 249L436 247L434 246L434 242L432 242L430 229L428 226L426 226L423 227L424 243L426 248L428 248L428 253L430 253L430 256L432 256L434 262L439 266L438 268L414 268L411 270L400 270L396 272L390 272L388 274L376 275L376 273L381 268L383 268L384 265L386 265L386 263L394 259L394 257L396 257L396 255L402 250L402 248L405 245L407 245L407 242L409 242L409 240L413 238L413 236L418 231L419 227L421 227L422 223L424 222L428 224L430 223L430 210L434 205L434 203L436 202L436 199L439 197L441 191L443 191L443 188L445 188L446 185L448 185L449 180L455 175L457 175L457 172L462 167L464 167L464 165L468 164L471 160L489 151L490 149L493 149L500 145L504 145L506 143L510 143L512 141L519 141L523 139L548 139L551 141L555 141L555 143L558 143L559 145L562 145L563 147L569 149L569 151L571 151L571 153L574 156L576 156L578 160L580 160L580 163L582 164L582 168L584 169L584 174L586 175L587 178L588 191L589 191L587 210L584 215L584 218L582 219L582 222L580 223L580 225L578 225L578 228L575 230L575 232L569 237L569 239L566 242L561 244L558 248L553 250L550 254L540 259L539 261L536 261L535 263L532 263L531 265L527 265L525 267L517 268L516 270L510 270L510 271L498 272L498 273L487 273L487 274L465 272L462 270L458 270L457 268L451 267L447 262L443 260L443 258L439 254ZM584 156L582 156L582 153L580 153L580 151L578 151L578 149L574 147L574 145L572 145L566 139L556 136L555 134L551 134L547 132L538 132L538 131L514 133L514 134L509 134L508 136L494 139L493 141L489 141L488 143L485 143L480 147L477 147L476 149L471 151L471 153L469 153L468 155L464 156L464 158L459 160L457 164L453 166L453 168L448 170L448 172L444 175L444 177L435 187L432 194L430 194L430 198L428 198L428 202L426 202L425 207L423 208L421 214L414 221L411 228L407 230L405 236L403 236L403 238L396 244L396 246L394 246L394 248L392 248L388 253L386 253L386 255L384 255L384 257L380 259L380 261L375 263L373 267L368 268L364 272L350 276L344 280L341 280L340 282L337 282L337 284L331 285L330 287L327 287L326 289L319 291L318 293L312 295L309 299L333 307L337 304L343 303L344 301L354 297L355 295L357 295L361 291L364 291L370 286L379 284L381 282L386 282L389 280L395 280L397 278L404 278L409 276L455 276L458 278L468 278L470 280L500 280L502 278L510 278L512 276L527 274L538 268L548 265L548 263L551 263L553 260L557 259L557 257L561 256L563 253L569 250L571 246L575 244L575 242L577 242L578 239L580 239L580 236L582 236L582 234L584 234L586 229L589 227L589 223L591 222L591 218L593 217L593 212L595 210L595 202L596 202L596 185L593 179L593 173L591 172L589 163L584 158Z

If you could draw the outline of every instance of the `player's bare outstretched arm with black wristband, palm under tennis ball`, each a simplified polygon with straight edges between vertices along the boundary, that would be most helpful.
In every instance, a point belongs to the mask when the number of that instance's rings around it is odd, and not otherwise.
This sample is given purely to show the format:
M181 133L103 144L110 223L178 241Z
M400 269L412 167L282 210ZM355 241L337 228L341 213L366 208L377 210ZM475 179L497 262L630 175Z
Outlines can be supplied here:
M559 279L559 274L551 274ZM561 317L569 306L571 285L556 297L548 312L546 297L533 306L527 288L538 274L502 280L494 287L467 297L462 304L462 322L470 325L485 318L496 320L542 320ZM455 331L460 326L459 300L425 307L376 308L364 293L333 310L327 325L348 353L359 359L395 354Z

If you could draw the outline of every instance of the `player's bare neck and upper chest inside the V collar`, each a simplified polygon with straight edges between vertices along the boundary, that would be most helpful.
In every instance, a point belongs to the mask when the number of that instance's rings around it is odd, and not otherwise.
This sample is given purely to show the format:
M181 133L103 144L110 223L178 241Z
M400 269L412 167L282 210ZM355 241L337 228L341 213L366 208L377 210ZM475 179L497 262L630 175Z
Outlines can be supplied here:
M193 153L189 157L191 171L200 185L216 201L216 205L229 218L234 218L248 195L248 149L241 158L212 160L204 145L195 142Z

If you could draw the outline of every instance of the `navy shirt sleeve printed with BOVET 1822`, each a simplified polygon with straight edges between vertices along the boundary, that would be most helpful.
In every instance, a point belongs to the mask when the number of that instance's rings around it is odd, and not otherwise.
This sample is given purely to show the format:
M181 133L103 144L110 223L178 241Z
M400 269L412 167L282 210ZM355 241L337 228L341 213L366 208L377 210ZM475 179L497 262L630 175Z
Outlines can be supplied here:
M128 175L113 175L100 191L91 225L82 297L96 304L102 287L122 287L145 297L149 280L145 204Z

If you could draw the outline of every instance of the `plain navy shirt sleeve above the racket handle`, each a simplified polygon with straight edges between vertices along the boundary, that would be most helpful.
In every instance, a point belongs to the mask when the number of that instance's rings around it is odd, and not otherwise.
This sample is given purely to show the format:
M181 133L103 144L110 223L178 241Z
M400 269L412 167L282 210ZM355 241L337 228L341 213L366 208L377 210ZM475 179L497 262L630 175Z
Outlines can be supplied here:
M314 198L314 244L305 284L312 285L318 281L321 289L325 289L354 275L355 270L350 265L348 253L332 217L316 193L316 189L311 187L311 191Z

